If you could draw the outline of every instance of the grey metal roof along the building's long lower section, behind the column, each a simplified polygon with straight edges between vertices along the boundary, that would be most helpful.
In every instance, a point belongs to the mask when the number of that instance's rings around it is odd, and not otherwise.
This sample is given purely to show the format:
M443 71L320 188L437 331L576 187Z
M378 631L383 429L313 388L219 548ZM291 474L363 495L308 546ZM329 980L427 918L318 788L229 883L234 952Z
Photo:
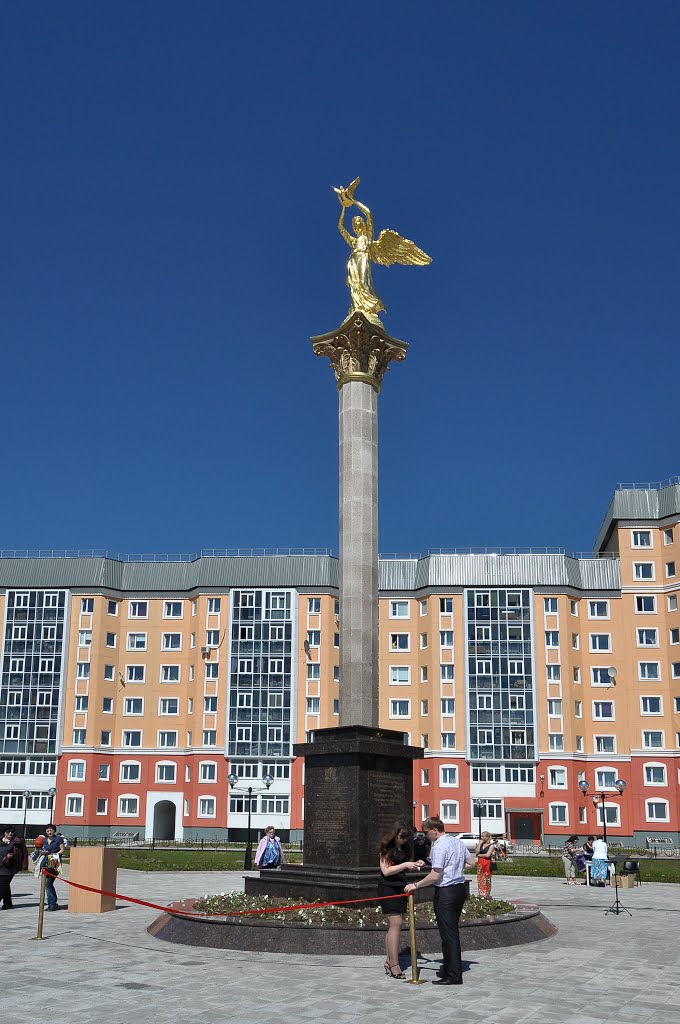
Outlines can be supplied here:
M192 562L112 558L0 558L0 588L67 588L154 593L238 587L337 589L339 563L327 555L201 557ZM460 587L566 587L618 590L615 558L568 555L428 555L382 559L380 590Z

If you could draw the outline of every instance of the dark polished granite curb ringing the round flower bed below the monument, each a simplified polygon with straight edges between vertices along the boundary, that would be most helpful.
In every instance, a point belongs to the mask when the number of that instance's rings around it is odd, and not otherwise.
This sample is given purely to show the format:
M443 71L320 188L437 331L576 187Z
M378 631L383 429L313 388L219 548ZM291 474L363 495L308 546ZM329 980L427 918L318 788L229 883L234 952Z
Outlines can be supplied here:
M384 928L356 928L352 925L291 924L255 921L248 918L182 918L190 913L195 900L170 903L174 914L163 913L146 929L150 935L165 942L213 949L250 949L278 953L333 953L336 955L373 956L385 951ZM533 903L517 903L513 913L478 921L462 921L461 946L467 949L494 949L516 946L555 935L557 929ZM402 935L408 942L408 928ZM419 948L436 949L439 934L436 925L416 930Z

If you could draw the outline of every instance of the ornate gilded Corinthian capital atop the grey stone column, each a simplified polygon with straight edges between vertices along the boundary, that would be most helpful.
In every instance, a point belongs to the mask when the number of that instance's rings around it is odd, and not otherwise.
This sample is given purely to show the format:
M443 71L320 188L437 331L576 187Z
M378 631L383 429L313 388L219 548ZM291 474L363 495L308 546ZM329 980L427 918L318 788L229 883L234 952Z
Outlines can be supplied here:
M335 331L311 339L316 355L328 355L338 390L347 381L364 381L380 394L389 364L406 358L406 341L390 338L364 313L352 312Z

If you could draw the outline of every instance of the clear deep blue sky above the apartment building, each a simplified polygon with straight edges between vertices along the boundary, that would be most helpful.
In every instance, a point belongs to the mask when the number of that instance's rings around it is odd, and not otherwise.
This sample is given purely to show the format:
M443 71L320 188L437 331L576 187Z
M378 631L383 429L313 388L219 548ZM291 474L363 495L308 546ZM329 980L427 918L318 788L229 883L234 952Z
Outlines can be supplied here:
M680 473L680 7L5 4L0 547L337 548L347 309L377 268L380 547L593 542Z

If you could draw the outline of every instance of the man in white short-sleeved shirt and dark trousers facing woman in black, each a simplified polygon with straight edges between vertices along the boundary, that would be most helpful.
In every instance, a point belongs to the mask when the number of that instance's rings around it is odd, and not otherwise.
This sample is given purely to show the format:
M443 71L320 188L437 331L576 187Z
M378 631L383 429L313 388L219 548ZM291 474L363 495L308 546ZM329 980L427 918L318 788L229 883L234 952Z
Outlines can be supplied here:
M465 902L465 865L474 864L476 857L455 836L448 836L440 818L423 821L425 838L432 843L432 870L420 882L406 886L410 893L425 886L434 886L434 915L441 939L443 967L437 971L433 985L462 985L461 937L458 922Z

